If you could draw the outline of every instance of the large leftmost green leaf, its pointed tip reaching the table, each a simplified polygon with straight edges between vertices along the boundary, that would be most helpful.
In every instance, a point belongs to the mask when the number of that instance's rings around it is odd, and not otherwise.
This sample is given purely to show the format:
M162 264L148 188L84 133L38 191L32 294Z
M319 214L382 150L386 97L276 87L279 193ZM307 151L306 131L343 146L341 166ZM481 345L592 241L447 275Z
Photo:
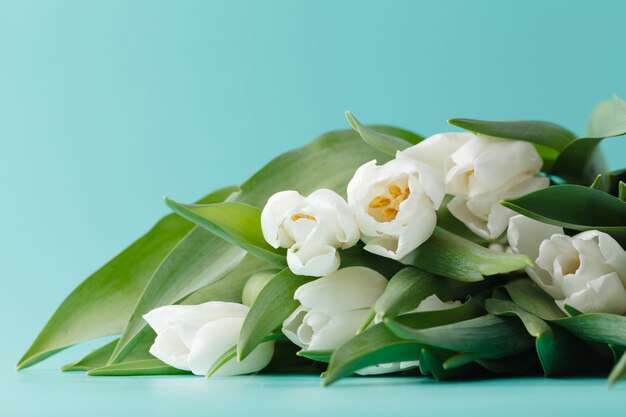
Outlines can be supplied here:
M200 200L224 200L236 187L211 193ZM19 360L25 368L76 343L120 333L150 277L193 223L171 214L88 277L63 301L32 346Z

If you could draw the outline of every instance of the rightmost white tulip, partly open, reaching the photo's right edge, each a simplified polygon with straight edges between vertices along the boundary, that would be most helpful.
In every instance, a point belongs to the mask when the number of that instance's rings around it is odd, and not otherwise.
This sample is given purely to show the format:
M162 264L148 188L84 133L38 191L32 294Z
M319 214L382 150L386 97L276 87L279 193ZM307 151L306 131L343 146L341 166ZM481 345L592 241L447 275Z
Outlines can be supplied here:
M573 237L563 229L517 215L508 232L513 251L535 258L530 277L563 310L626 313L626 251L606 233L590 230Z

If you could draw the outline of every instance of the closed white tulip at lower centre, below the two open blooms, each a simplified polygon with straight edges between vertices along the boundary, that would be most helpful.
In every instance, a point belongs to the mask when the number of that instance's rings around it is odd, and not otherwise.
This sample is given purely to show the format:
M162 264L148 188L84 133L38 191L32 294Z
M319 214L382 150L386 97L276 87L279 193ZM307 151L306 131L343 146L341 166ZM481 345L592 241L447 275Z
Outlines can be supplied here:
M387 287L378 272L353 266L299 287L283 333L305 350L333 350L352 338Z

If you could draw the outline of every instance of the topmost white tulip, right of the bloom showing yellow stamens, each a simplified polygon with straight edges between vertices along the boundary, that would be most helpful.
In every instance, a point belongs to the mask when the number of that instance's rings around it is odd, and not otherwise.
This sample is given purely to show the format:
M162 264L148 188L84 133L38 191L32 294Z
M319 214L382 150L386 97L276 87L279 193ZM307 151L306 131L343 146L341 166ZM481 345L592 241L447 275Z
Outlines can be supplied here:
M515 214L500 204L547 187L538 176L542 160L535 147L519 140L493 138L473 133L440 133L411 148L398 158L428 164L445 177L446 191L454 198L450 213L471 231L495 239Z

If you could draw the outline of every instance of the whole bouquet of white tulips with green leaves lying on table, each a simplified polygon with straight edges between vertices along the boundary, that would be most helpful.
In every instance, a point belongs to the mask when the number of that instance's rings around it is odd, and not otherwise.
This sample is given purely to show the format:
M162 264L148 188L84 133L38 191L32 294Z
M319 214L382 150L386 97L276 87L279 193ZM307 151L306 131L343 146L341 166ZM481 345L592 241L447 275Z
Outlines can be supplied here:
M105 335L88 375L626 376L626 133L452 119L325 134L173 214L88 277L18 363Z

